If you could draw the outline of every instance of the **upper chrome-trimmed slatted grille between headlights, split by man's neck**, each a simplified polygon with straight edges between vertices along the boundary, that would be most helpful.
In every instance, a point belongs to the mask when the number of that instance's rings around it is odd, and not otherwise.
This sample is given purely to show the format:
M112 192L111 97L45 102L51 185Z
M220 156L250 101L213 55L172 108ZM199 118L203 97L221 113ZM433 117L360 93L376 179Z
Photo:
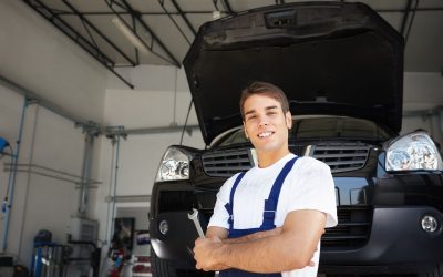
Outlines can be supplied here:
M362 168L367 163L370 145L362 143L321 143L316 145L291 145L297 155L307 153L329 165L332 173ZM203 155L205 173L213 177L230 177L237 172L254 166L253 152L249 148L214 151Z

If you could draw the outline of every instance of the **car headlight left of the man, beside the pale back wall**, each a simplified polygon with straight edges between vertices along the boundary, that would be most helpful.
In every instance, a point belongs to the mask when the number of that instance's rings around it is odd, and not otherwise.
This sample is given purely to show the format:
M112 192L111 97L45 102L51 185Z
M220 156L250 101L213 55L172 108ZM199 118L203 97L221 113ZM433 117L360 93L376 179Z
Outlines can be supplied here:
M169 147L159 163L156 182L188 179L190 155L177 147Z

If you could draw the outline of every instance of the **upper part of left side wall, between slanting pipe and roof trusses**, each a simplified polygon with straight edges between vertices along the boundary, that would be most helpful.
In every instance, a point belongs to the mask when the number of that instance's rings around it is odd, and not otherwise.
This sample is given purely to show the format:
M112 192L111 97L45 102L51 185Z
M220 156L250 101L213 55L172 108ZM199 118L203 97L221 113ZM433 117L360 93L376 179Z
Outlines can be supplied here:
M0 75L101 123L106 70L21 1L0 2Z

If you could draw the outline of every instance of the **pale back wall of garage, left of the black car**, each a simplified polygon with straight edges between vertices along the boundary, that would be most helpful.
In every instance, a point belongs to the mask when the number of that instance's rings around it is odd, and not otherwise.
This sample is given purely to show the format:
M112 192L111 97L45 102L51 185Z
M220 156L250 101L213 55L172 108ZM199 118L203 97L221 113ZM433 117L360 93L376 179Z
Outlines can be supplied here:
M104 112L106 125L134 130L185 124L190 93L183 69L143 65L122 70L121 73L135 84L136 89L128 90L121 82L109 80ZM196 124L198 123L193 107L188 125ZM181 135L181 132L166 132L130 134L126 140L121 138L116 196L151 195L159 161L167 146L179 144ZM194 130L192 135L185 133L183 144L197 148L205 146L198 130ZM112 230L110 225L106 229L105 219L110 217L113 208L105 199L114 192L113 153L115 157L116 144L113 148L111 140L102 137L101 147L100 179L103 181L103 185L93 192L92 198L96 201L94 216L103 219L100 236L106 240ZM122 205L116 204L117 207ZM150 203L136 203L135 206L137 205L146 211Z

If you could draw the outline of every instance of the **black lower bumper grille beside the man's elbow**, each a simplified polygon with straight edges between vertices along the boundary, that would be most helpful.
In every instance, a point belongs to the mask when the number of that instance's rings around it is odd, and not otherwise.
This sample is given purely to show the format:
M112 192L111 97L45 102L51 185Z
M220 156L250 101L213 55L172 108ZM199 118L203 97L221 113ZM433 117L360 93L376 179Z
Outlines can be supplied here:
M327 228L321 247L356 248L364 245L370 235L373 209L368 206L337 207L339 224Z

